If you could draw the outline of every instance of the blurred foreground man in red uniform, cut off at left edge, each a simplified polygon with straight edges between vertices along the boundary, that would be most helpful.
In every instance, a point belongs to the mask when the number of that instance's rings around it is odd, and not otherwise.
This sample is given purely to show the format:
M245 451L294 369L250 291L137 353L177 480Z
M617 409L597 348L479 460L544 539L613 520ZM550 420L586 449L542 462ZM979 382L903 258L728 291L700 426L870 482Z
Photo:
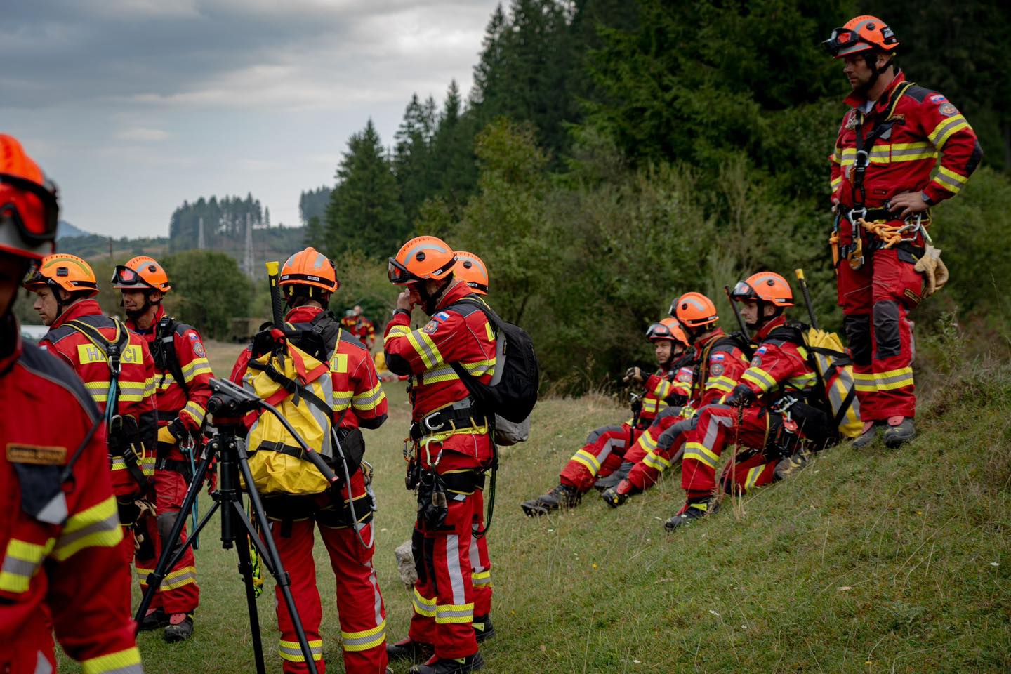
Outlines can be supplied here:
M105 426L74 371L21 343L13 314L30 262L53 252L58 210L56 187L0 134L0 671L55 672L55 632L89 674L143 674Z

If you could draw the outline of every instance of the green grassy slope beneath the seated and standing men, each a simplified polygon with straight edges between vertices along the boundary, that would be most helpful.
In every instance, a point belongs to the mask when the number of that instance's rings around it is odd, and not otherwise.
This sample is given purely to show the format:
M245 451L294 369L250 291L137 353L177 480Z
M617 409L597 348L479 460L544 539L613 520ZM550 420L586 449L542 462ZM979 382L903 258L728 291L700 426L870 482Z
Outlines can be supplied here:
M590 494L560 517L522 515L517 503L554 484L589 427L623 416L603 398L544 401L534 438L507 450L499 473L490 534L498 636L483 649L488 670L1008 671L1007 382L978 374L952 384L946 411L935 406L907 449L832 450L677 536L660 522L682 498L677 479L617 512ZM413 507L401 481L408 409L400 385L387 393L390 419L367 434L367 456L380 499L376 566L398 639L409 598L392 551ZM196 636L168 647L144 635L148 672L252 671L236 557L216 535L215 521L198 552ZM342 671L334 578L319 546L316 557L327 657ZM259 606L268 663L279 671L270 592Z

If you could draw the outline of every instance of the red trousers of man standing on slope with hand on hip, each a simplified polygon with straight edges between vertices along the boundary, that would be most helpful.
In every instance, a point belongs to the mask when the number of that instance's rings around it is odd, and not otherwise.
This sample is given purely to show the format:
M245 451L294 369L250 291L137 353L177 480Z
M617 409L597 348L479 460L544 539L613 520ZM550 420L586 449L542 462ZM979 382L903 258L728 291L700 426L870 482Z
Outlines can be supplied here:
M866 256L858 270L845 260L837 268L838 301L864 421L916 415L916 349L908 316L920 302L923 277L905 251L883 249Z

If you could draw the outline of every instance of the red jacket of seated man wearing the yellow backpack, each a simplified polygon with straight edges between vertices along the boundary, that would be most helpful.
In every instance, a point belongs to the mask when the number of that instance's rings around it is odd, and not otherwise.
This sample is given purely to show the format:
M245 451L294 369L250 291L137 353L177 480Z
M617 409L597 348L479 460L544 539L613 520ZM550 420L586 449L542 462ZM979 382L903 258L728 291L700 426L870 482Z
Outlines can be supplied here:
M755 333L758 349L740 376L740 385L754 394L758 404L768 405L785 393L805 392L818 383L804 346L788 339L791 335L787 330L777 329L786 324L787 318L779 316Z

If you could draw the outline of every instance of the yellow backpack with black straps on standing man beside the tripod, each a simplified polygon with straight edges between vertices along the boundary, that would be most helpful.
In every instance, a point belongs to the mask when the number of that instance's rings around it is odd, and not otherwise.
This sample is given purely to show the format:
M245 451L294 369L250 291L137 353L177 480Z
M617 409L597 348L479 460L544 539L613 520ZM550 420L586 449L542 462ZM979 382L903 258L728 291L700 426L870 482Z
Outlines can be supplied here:
M306 445L334 464L334 381L329 363L288 341L283 352L251 360L243 386L277 407ZM330 486L273 414L260 415L246 444L253 482L261 494L318 494Z

